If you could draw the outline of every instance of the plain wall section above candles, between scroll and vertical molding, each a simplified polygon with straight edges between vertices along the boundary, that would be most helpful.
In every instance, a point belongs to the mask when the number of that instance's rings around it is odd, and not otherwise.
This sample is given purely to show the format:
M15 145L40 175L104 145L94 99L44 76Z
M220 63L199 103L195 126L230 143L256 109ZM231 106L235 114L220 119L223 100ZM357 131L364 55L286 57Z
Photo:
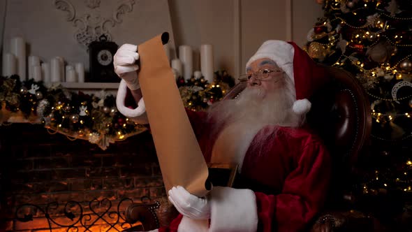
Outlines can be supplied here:
M176 45L191 45L199 69L199 48L214 46L214 69L234 69L233 1L169 0Z

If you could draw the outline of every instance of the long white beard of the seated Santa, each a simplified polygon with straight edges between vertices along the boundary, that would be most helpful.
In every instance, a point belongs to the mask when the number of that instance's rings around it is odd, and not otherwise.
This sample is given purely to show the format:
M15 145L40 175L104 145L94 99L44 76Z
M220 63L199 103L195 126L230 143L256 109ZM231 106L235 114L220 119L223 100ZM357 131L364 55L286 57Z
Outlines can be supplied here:
M209 110L209 117L214 118L216 129L221 129L212 151L214 163L236 163L240 170L251 141L264 126L299 126L302 118L293 113L295 88L285 82L285 86L276 92L263 92L260 88L249 88L237 97L221 101ZM265 130L265 137L274 133ZM260 141L256 141L259 143ZM263 150L263 144L255 144ZM258 151L258 153L262 153ZM223 154L223 155L221 155Z

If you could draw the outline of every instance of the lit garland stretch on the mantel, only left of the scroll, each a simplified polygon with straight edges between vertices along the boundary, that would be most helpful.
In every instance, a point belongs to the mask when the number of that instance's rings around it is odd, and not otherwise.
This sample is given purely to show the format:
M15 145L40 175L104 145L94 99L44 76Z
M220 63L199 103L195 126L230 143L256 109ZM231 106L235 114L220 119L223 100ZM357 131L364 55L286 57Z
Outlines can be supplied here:
M33 79L21 82L18 75L1 77L0 86L1 123L8 122L10 115L20 114L23 119L41 122L50 133L88 140L102 150L110 143L147 130L120 114L115 97L105 92L101 92L101 97L75 94L61 85L47 88Z

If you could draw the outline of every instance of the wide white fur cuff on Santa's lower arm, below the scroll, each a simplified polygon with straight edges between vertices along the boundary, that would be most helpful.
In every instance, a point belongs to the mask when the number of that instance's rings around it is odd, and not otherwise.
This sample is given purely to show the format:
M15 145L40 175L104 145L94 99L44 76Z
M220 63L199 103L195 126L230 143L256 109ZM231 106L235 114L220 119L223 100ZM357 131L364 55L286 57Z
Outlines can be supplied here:
M211 199L211 232L255 232L258 229L256 196L250 189L214 187Z

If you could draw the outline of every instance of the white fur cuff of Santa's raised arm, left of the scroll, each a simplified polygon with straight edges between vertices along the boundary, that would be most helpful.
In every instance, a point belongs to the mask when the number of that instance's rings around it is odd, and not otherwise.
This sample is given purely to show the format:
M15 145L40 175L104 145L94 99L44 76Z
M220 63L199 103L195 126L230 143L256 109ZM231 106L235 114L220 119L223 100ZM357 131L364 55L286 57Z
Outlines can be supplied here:
M145 101L143 101L143 98L139 100L137 108L131 109L126 106L125 101L126 101L127 88L128 87L126 85L126 82L122 80L119 84L119 89L117 90L117 96L116 96L117 110L119 110L119 112L122 113L122 115L128 117L129 119L132 119L133 122L137 122L140 124L149 123L149 121L147 120Z

